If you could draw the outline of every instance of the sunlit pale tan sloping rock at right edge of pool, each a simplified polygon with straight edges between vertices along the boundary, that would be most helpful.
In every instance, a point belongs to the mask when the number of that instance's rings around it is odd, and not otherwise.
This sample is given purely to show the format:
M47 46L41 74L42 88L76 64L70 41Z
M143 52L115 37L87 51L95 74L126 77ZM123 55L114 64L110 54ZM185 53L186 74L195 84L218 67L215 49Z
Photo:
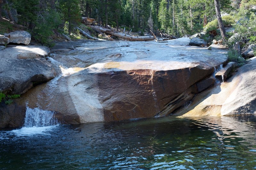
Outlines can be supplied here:
M237 69L227 82L199 93L174 113L182 117L256 114L256 57Z

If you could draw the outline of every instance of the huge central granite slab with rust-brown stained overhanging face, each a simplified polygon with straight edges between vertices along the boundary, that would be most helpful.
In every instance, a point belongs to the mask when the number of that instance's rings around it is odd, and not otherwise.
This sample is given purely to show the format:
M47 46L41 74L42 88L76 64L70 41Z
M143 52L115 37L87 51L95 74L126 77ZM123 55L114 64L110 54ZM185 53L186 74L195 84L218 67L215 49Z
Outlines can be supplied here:
M227 60L225 50L189 42L86 41L76 50L51 55L49 61L62 74L30 89L17 103L40 104L70 124L168 115L191 100L196 84Z

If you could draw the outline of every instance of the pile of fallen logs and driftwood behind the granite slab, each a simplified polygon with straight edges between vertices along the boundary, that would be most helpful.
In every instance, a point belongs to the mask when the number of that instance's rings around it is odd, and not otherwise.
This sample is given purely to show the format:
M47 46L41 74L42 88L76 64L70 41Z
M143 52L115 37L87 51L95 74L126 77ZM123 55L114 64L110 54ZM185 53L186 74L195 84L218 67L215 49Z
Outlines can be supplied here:
M115 36L124 40L128 40L128 41L166 41L166 40L171 40L171 39L175 39L176 37L173 37L172 35L168 35L162 32L157 32L157 36L150 31L152 36L132 36L130 35L129 31L127 33L125 33L125 31L119 32L115 29L112 29L110 27L105 28L105 27L101 27L98 25L98 23L95 21L95 19L93 18L86 18L83 17L82 18L82 23L84 23L87 27L92 28L95 32L107 37L108 40L113 40L110 36L107 35L111 35L111 36ZM99 38L95 38L92 37L91 35L89 35L88 33L86 33L85 31L83 31L82 29L80 29L79 27L76 27L76 29L78 29L80 31L81 34L83 34L84 36L86 36L87 38L93 39L93 40L102 40Z

